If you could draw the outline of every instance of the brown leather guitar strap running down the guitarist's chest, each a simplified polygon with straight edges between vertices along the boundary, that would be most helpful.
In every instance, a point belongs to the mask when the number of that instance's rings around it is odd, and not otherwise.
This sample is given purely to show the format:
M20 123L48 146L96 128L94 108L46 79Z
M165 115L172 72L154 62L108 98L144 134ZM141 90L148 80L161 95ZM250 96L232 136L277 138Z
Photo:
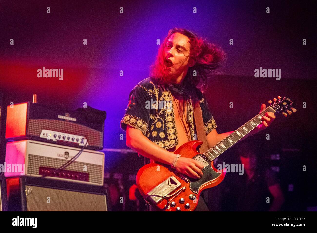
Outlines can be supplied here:
M204 153L208 150L208 144L206 139L206 133L204 129L204 121L203 121L203 110L200 107L199 100L197 95L195 95L194 100L194 121L195 121L195 128L197 134L197 140L202 141L203 144L200 145L199 153Z

